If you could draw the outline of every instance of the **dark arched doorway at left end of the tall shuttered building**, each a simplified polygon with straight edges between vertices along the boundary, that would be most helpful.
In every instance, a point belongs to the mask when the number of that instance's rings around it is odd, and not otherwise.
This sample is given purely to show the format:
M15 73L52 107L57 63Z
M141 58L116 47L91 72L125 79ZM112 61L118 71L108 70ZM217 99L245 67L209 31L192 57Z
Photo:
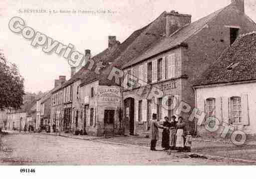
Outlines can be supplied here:
M134 99L127 98L124 100L125 116L128 116L129 120L125 121L125 131L129 131L130 135L134 135Z

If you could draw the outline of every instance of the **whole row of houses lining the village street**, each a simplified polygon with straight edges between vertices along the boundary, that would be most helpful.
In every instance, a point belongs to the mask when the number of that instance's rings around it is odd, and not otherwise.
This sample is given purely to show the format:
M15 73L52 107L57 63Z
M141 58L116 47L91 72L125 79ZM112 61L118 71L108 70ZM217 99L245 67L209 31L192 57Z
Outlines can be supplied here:
M206 117L255 133L256 34L250 33L255 30L244 0L232 0L195 22L190 14L165 11L122 43L109 36L104 51L79 70L71 67L69 80L60 76L37 100L36 129L49 125L54 132L140 135L157 113L159 120L183 116L189 130L204 134L196 120L187 120L191 113L174 112L179 105L163 107L164 96L171 96L167 104L175 97L178 104L197 107ZM113 69L121 75L112 78Z

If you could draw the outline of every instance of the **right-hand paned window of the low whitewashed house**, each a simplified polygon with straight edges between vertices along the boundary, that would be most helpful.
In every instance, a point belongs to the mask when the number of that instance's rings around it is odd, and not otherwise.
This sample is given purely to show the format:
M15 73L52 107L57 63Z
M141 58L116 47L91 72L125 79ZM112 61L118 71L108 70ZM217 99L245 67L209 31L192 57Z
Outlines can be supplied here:
M230 98L230 124L240 124L242 122L241 97Z

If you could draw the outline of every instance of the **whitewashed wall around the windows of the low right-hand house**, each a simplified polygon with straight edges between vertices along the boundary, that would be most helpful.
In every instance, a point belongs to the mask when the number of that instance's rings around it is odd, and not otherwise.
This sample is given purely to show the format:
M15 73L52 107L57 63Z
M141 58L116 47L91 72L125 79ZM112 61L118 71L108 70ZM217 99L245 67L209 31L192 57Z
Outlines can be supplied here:
M245 96L248 95L248 100ZM243 106L248 105L248 120L249 125L246 124L247 120L244 116L247 113L245 110L247 107L242 107L243 125L239 126L239 130L243 130L247 134L256 134L256 83L244 83L244 84L233 84L225 86L215 86L207 88L196 89L197 97L197 108L200 111L205 111L205 100L207 98L216 99L216 117L220 122L224 121L228 123L229 121L229 102L228 99L233 96L240 96L241 103Z

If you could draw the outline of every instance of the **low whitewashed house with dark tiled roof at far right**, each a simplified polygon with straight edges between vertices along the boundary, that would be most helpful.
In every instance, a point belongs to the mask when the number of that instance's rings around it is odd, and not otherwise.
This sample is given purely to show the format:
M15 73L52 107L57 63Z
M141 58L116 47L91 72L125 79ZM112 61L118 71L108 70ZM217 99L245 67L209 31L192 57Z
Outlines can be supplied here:
M256 32L241 35L195 81L196 107L206 114L206 121L228 126L229 135L240 130L256 134ZM198 126L201 136L220 136L223 127L210 133Z

